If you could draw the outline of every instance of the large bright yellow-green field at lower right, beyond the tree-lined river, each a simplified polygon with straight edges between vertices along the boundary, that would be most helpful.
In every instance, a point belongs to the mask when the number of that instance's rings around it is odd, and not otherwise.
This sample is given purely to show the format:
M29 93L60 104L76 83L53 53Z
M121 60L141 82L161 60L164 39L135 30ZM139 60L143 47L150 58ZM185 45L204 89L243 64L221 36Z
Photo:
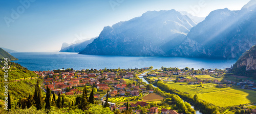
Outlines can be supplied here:
M256 92L230 89L222 92L198 94L199 98L217 106L226 107L256 102Z

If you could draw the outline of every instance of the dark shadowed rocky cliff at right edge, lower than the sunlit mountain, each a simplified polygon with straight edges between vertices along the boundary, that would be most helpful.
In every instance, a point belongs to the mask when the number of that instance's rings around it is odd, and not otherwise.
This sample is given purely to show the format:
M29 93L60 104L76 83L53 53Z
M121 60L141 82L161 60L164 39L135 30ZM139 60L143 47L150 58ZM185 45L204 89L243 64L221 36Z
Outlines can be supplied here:
M256 45L247 50L233 65L232 72L256 79Z

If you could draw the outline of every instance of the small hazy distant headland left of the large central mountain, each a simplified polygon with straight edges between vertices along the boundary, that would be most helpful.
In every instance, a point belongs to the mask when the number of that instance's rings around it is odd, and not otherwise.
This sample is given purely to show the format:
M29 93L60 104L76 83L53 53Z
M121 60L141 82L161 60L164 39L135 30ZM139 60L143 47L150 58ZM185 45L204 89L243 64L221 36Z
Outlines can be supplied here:
M75 44L72 44L72 45L69 45L67 43L63 43L62 47L61 47L61 50L59 52L81 52L82 50L84 50L86 48L86 46L88 44L92 43L93 40L96 39L96 38L97 37L92 38L90 40L80 42L80 43L75 43Z

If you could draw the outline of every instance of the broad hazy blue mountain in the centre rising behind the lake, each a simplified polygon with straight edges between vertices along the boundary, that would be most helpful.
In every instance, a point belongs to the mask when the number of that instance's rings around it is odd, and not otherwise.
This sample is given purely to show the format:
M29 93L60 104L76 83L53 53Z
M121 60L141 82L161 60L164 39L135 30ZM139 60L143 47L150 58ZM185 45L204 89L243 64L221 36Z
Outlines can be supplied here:
M164 56L180 44L197 22L175 10L147 11L106 26L79 54Z

